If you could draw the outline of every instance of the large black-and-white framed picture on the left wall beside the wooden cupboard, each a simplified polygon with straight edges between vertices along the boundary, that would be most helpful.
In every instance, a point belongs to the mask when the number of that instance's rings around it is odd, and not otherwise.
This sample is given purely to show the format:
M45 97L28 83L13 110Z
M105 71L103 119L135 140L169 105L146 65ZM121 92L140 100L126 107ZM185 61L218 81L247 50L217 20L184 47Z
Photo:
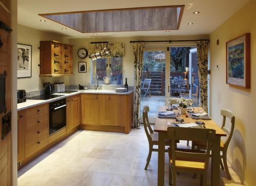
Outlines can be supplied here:
M32 75L32 46L17 44L17 77L31 77Z

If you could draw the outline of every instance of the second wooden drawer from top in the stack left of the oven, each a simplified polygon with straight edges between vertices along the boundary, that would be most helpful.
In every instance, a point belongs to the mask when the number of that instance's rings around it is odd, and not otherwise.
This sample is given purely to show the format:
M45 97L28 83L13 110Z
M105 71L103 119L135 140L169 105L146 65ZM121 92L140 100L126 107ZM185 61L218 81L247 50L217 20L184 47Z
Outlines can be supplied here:
M48 120L49 120L48 114L29 118L27 119L26 131L36 129L38 126L42 124L48 124Z

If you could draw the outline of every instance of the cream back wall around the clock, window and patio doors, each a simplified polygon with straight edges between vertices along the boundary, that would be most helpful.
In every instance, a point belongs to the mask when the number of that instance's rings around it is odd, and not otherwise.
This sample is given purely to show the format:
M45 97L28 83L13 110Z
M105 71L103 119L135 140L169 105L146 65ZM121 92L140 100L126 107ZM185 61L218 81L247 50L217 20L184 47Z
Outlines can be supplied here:
M70 44L75 45L74 46L74 76L70 77L70 85L87 85L90 84L91 81L91 75L90 75L90 59L80 59L77 56L77 51L79 48L89 48L88 45L91 41L109 41L110 43L124 43L125 44L125 56L123 58L123 78L127 77L127 83L129 86L134 86L134 55L133 55L133 47L130 41L136 41L136 40L187 40L187 39L207 39L209 36L207 35L200 35L200 36L172 36L172 37L117 37L117 38L83 38L83 39L70 39ZM145 43L148 45L148 43ZM168 44L168 43L160 43L156 44L155 46L178 46L178 45L185 45L189 43L174 43L174 44ZM195 42L190 42L190 44L196 45ZM151 47L154 45L151 44ZM78 73L78 62L87 62L87 73Z

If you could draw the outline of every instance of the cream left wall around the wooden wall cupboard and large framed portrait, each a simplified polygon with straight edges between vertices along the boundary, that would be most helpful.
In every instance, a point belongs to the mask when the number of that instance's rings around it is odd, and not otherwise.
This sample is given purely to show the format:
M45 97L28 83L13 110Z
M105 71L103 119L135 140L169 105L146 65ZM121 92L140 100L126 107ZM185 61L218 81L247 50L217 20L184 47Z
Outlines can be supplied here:
M29 28L24 25L18 24L17 31L17 42L20 44L32 45L32 77L18 78L18 89L25 89L28 91L35 91L43 89L42 83L44 82L65 82L69 85L69 77L39 77L39 67L37 66L40 62L39 49L40 41L55 40L63 43L69 43L69 40L63 36L54 33L42 32Z

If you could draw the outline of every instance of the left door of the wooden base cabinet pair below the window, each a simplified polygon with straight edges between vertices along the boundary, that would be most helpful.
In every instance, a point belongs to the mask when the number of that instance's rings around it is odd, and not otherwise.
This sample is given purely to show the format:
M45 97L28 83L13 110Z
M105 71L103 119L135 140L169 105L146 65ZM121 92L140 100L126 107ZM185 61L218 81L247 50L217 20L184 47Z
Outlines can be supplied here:
M95 124L100 123L99 103L100 97L98 94L81 94L81 111L82 111L82 124Z

